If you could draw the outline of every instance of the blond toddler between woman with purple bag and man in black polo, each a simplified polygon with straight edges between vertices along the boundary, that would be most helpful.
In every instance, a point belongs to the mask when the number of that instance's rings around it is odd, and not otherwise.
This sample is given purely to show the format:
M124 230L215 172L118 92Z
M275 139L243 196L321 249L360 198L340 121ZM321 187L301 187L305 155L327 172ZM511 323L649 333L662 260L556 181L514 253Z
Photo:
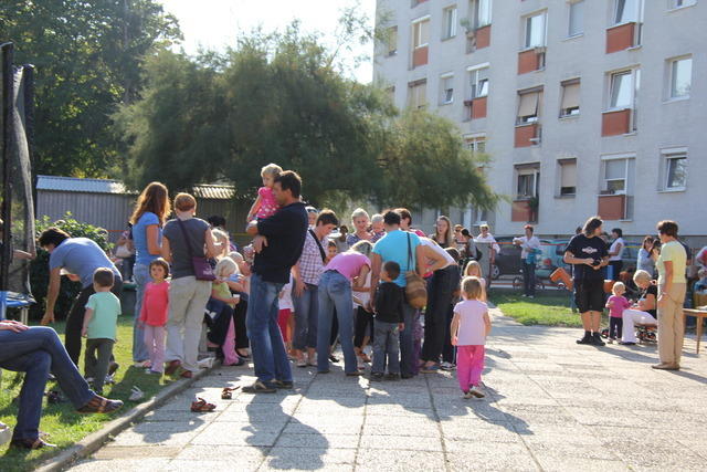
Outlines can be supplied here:
M214 274L217 280L211 284L211 300L221 302L221 310L214 317L214 325L209 333L209 340L221 346L224 366L241 366L244 360L235 353L235 325L233 314L235 305L241 301L240 295L233 295L229 287L229 277L238 271L238 265L231 258L223 258L217 263Z

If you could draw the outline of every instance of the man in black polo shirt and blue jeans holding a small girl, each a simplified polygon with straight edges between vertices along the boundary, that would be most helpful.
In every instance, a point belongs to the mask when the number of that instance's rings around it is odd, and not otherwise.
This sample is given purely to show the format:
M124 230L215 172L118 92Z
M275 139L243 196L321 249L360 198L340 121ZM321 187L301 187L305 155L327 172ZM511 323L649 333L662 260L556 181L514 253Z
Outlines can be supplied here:
M255 260L251 275L245 326L257 380L243 388L246 394L272 394L277 388L292 388L292 369L282 333L277 326L278 294L289 281L307 233L305 204L299 201L302 179L286 170L273 186L279 210L270 218L252 221L246 229L254 235Z

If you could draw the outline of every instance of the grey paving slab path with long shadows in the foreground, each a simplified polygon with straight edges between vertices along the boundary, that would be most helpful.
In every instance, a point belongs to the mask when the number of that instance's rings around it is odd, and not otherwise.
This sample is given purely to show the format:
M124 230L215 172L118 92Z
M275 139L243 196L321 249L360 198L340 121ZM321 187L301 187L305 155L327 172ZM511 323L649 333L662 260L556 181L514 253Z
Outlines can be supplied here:
M295 369L291 394L220 399L252 369L221 368L75 471L705 470L707 360L655 371L655 347L578 346L577 329L495 317L485 400L454 376L369 385ZM192 398L218 405L191 413Z

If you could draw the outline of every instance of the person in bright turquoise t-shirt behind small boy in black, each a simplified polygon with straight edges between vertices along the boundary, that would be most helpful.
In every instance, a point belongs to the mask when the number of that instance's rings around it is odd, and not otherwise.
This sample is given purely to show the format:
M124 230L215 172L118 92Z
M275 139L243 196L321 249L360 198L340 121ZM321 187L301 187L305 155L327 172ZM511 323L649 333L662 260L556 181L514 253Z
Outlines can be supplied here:
M400 265L400 275L393 281L401 287L407 286L405 273L409 271L424 273L424 258L420 238L412 232L400 229L400 213L388 211L383 214L386 235L373 247L371 252L371 306L376 304L376 290L380 281L380 270L388 261ZM400 377L414 376L412 329L416 310L407 301L402 304L404 328L400 332Z

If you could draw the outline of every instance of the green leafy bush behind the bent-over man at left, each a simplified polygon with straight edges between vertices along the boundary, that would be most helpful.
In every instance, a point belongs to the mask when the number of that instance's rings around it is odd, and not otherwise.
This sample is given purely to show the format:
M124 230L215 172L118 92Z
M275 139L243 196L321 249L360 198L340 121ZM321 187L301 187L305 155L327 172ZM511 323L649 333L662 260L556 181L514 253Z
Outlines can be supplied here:
M66 212L64 219L53 222L46 216L41 220L36 220L38 238L42 231L51 227L66 231L72 238L88 238L94 240L104 251L110 251L112 244L108 242L108 232L106 230L76 221L71 212ZM41 248L36 249L36 259L30 264L30 283L32 294L34 295L34 300L36 300L36 304L30 310L30 317L32 319L40 319L46 306L46 287L49 285L49 252ZM56 298L56 305L54 307L56 319L64 319L66 317L71 304L80 291L81 284L78 282L71 282L67 277L62 277L59 297Z

